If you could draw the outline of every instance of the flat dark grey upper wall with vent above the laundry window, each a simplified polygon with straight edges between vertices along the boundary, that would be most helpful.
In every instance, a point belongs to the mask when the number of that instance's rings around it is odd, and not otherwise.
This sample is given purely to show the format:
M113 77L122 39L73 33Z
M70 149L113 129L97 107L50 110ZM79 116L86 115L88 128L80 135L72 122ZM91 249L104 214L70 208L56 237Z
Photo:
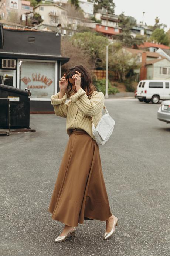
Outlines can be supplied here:
M69 58L62 57L60 51L60 35L54 32L31 29L3 29L4 47L0 56L13 58L61 60L66 63Z

